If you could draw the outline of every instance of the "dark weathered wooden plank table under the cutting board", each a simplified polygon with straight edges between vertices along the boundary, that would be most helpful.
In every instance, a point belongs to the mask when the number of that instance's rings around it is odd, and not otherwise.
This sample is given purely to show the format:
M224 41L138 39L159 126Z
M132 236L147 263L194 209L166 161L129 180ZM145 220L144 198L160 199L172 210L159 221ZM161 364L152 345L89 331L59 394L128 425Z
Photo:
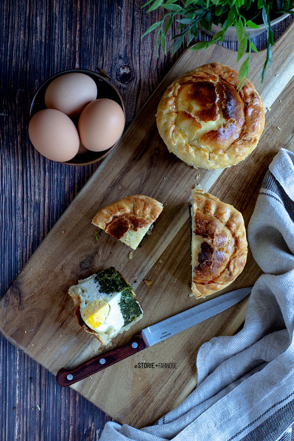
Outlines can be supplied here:
M102 68L123 96L129 124L185 50L183 45L174 56L161 52L157 58L155 34L143 40L141 35L162 13L147 14L142 4L1 2L0 296L98 167L51 162L31 146L28 109L38 86L65 69ZM275 26L275 39L289 23ZM265 48L265 35L255 44ZM236 49L233 43L227 46ZM111 419L73 390L59 387L52 374L1 335L0 403L0 441L95 441Z

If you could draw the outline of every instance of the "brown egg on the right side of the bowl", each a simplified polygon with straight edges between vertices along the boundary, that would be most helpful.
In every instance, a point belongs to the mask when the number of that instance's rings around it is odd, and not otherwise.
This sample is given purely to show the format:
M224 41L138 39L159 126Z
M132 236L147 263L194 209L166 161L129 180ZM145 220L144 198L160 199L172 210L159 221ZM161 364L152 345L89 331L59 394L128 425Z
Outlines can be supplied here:
M78 120L82 144L92 151L102 151L113 146L124 129L122 107L112 99L100 98L90 102Z

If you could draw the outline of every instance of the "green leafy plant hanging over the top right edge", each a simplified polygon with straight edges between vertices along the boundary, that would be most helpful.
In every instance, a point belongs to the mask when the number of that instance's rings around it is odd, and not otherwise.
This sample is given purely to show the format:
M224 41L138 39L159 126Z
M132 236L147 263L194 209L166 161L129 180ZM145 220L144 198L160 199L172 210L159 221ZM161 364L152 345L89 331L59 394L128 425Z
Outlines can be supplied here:
M187 46L198 38L199 25L211 31L212 24L221 25L221 30L217 32L210 41L199 41L192 50L208 49L212 44L223 42L225 33L230 26L234 26L239 42L237 62L245 55L248 56L239 70L239 88L241 88L248 76L250 55L252 50L258 52L248 34L248 28L258 29L258 23L263 22L267 30L267 57L261 73L261 82L264 80L267 68L271 64L271 47L273 45L273 35L270 27L270 20L273 15L278 16L283 13L293 14L294 0L186 0L177 3L177 0L149 0L143 5L148 7L147 12L163 8L165 14L162 20L153 23L142 37L149 32L157 29L156 51L159 56L159 48L164 53L172 50L174 54L184 42L187 36ZM177 34L172 37L172 45L167 49L167 34L173 23L177 24ZM159 42L159 45L158 45Z

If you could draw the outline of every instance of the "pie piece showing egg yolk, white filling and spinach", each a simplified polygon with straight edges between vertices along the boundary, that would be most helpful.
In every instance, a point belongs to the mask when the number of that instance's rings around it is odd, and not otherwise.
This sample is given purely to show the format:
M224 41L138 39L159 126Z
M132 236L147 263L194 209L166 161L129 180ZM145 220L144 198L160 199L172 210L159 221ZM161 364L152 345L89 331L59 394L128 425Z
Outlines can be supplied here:
M79 325L103 345L143 317L131 285L114 267L79 280L69 294Z

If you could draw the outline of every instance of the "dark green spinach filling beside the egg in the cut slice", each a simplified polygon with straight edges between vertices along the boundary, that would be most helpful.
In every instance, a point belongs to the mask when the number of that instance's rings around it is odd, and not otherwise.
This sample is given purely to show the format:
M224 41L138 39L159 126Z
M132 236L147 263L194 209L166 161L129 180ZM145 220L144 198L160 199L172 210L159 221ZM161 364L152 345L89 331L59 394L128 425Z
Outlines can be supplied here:
M119 307L123 315L124 326L130 324L142 314L140 305L134 297L133 288L114 267L98 272L94 280L99 284L99 293L122 292Z

